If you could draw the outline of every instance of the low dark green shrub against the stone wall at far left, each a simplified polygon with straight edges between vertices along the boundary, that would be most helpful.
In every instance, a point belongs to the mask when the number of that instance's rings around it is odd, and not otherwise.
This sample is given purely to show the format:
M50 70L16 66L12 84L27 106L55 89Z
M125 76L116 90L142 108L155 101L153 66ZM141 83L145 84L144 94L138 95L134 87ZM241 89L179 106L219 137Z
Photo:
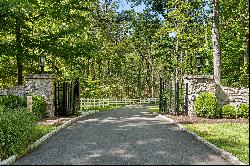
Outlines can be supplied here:
M20 107L27 107L27 99L24 96L1 96L0 105L5 106L6 108L15 109Z

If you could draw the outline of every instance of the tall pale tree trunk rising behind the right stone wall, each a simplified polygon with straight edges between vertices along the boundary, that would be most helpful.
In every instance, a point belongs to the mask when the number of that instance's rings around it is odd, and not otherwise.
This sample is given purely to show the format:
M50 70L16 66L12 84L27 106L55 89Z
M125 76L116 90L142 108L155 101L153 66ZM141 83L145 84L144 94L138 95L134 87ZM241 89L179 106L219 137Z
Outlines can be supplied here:
M219 0L213 0L212 15L212 41L213 41L213 64L215 83L220 84L221 80L221 58L220 58L220 38L219 38Z

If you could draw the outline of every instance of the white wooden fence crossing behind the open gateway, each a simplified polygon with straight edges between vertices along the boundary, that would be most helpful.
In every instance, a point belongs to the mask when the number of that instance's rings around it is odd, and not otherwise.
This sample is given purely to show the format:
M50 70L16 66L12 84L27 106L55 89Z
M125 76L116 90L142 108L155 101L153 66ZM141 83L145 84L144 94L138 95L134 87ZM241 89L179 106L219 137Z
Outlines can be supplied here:
M107 107L107 106L118 106L118 105L133 105L133 104L157 104L158 98L148 99L92 99L92 98L81 98L81 110L85 108L96 108L96 107Z

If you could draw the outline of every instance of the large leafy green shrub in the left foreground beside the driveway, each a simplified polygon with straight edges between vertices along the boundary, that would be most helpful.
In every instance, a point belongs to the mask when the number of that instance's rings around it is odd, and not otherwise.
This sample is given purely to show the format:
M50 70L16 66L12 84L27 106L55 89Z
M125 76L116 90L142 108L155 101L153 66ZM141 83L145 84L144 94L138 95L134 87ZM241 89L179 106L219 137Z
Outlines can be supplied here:
M26 149L35 132L36 117L26 109L0 111L0 158L4 159Z

